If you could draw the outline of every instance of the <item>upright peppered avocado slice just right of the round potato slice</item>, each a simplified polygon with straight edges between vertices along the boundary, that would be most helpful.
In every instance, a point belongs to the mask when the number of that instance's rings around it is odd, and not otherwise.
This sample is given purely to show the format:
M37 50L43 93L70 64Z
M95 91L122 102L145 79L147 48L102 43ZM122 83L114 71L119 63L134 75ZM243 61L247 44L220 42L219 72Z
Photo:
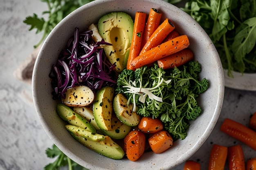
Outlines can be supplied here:
M111 130L111 116L113 111L113 97L115 89L103 87L96 93L93 103L93 116L101 130Z

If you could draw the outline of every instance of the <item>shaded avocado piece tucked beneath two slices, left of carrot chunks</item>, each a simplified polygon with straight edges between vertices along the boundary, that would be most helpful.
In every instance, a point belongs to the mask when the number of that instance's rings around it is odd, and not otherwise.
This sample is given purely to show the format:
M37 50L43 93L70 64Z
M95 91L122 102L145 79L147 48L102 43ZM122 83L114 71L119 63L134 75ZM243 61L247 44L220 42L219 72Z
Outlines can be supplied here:
M111 130L103 130L103 134L112 139L124 139L132 127L122 123L114 113L111 117L111 128Z

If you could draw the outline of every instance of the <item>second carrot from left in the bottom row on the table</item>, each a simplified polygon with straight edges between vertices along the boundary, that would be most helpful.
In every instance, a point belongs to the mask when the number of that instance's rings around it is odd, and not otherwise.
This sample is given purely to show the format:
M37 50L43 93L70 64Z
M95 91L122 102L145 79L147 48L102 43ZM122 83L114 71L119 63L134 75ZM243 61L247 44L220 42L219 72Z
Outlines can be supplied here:
M208 170L224 170L228 148L214 144L211 148Z

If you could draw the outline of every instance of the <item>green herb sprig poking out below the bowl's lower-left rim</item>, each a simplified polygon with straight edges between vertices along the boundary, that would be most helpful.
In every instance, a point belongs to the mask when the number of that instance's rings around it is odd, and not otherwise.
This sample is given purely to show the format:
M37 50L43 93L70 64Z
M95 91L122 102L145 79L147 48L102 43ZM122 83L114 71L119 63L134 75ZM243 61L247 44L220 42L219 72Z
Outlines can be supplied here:
M52 145L52 148L47 148L45 153L47 157L56 158L56 160L53 163L46 165L44 170L59 170L65 166L68 167L68 170L87 170L67 157L63 152L61 152L61 150L57 148L56 145Z

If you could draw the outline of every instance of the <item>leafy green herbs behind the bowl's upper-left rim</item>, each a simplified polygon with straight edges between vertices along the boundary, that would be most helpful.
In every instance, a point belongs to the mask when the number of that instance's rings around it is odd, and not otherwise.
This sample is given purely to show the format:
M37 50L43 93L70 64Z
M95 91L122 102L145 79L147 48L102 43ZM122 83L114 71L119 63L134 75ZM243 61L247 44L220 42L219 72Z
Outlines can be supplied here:
M27 16L23 21L30 25L29 31L36 29L36 34L43 31L41 40L34 47L38 47L52 29L69 13L93 0L41 0L47 4L48 10L43 11L43 15L47 15L47 19L38 17L37 14Z

